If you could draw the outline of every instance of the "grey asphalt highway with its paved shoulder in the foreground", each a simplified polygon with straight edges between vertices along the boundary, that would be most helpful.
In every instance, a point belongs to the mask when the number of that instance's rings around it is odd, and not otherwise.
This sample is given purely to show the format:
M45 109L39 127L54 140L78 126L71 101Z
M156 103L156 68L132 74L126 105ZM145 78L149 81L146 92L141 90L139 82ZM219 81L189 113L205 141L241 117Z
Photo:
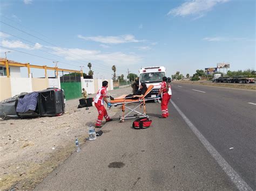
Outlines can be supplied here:
M250 190L255 186L256 91L172 84L170 117L147 103L149 129L103 126L36 190Z

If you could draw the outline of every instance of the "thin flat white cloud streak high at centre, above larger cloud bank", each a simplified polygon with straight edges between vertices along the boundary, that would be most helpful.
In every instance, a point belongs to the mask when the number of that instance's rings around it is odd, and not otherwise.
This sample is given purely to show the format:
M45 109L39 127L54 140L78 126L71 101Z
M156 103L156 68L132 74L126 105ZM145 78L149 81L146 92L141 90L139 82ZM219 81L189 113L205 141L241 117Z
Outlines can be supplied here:
M105 44L121 44L121 43L139 43L144 40L137 40L131 34L125 34L121 36L96 36L96 37L83 37L82 35L78 35L78 38L84 40L91 40L96 41L98 43L105 43Z

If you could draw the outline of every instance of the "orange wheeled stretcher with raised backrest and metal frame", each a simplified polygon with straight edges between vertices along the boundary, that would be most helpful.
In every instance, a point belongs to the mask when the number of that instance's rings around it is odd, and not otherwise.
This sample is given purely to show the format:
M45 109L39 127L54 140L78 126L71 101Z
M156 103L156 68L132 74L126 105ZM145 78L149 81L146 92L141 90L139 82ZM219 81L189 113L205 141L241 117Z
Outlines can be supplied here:
M123 112L123 114L119 118L120 122L124 122L124 119L141 118L141 117L149 118L149 116L146 114L146 101L149 101L149 100L156 101L156 100L160 99L159 97L146 98L146 96L148 94L150 94L150 92L152 91L153 87L154 87L153 85L150 85L147 88L147 91L146 91L145 95L143 97L139 98L138 100L131 100L129 98L126 98L124 100L111 100L110 101L110 103L114 107L117 107L118 105L122 105L122 112ZM127 106L127 104L131 104L131 103L135 104L135 106L133 108L130 108L129 106ZM137 111L137 109L139 107L141 108L142 106L143 106L143 113ZM129 110L126 113L125 113L125 108Z

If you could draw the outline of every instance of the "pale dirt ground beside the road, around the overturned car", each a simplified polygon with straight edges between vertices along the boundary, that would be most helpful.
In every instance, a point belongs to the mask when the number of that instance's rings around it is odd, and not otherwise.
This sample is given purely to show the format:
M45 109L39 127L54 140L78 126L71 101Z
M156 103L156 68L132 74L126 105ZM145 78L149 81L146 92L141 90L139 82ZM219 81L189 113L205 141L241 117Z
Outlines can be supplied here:
M127 87L108 94L119 96L131 91ZM81 144L86 141L89 125L95 124L98 112L94 106L77 109L78 104L78 99L67 101L65 114L58 117L0 118L0 190L32 189L75 152L76 137ZM107 111L112 117L120 108Z

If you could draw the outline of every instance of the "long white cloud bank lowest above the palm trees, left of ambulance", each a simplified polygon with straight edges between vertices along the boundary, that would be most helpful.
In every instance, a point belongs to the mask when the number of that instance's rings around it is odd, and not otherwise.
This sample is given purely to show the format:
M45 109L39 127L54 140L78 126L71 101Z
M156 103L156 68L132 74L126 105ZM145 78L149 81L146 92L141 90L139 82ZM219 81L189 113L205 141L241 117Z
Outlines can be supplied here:
M66 60L84 60L102 61L110 66L112 65L131 65L138 63L142 58L136 54L125 54L122 52L102 53L100 51L79 49L79 48L60 48L52 47L53 54L63 56Z

